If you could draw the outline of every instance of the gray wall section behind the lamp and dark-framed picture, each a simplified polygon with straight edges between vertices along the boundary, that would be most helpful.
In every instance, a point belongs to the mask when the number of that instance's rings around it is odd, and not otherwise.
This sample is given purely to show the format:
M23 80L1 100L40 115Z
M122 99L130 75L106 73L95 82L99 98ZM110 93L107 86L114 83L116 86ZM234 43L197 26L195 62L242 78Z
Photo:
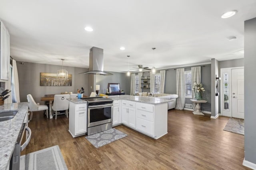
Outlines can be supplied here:
M106 93L108 83L120 83L120 90L124 90L126 95L130 95L130 77L126 73L110 72L113 75L96 75L96 85L100 85L99 94Z

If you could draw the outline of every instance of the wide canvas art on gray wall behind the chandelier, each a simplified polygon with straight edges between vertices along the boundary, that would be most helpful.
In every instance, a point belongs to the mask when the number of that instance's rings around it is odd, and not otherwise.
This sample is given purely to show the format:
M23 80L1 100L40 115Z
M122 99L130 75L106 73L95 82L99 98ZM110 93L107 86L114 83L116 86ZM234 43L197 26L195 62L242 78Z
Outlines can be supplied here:
M40 86L72 86L72 74L68 79L58 79L57 73L40 73Z

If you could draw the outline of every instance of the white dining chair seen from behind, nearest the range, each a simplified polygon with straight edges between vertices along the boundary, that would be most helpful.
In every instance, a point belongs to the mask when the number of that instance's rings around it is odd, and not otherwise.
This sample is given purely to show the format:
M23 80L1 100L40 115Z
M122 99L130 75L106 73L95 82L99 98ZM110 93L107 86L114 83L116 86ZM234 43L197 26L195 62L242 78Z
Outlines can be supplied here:
M54 103L52 105L52 115L55 111L55 119L57 119L58 111L65 111L65 114L68 118L68 108L70 95L54 95Z

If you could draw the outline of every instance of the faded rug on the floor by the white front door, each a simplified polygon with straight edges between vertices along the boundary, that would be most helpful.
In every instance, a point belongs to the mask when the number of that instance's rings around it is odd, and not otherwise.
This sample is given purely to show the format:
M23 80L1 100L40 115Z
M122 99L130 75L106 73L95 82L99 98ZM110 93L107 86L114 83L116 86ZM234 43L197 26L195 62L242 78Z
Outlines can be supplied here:
M244 135L244 119L229 118L223 130Z

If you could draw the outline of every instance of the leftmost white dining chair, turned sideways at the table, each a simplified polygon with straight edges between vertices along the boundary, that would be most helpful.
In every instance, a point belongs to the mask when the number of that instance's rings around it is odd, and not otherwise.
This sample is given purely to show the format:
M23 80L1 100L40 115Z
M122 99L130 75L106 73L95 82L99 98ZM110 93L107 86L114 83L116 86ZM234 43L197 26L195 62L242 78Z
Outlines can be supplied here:
M33 112L36 112L36 111L46 111L46 117L48 118L48 106L47 105L38 105L32 95L28 94L27 95L27 100L29 102L29 110L30 111L30 121L32 120L32 117L33 117Z

